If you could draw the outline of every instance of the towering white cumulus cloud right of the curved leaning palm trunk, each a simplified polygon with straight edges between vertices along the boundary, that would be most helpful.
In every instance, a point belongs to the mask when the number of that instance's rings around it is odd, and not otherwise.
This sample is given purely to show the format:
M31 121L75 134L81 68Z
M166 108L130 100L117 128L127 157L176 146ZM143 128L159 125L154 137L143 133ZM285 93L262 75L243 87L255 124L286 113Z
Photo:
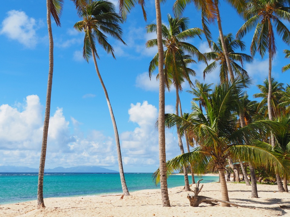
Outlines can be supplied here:
M129 120L137 123L138 127L134 131L127 131L120 135L121 148L124 154L125 165L155 165L158 166L158 131L155 128L155 122L158 118L158 110L147 101L142 104L137 102L131 104L128 111ZM179 147L176 138L170 130L166 130L166 153L167 158L174 157L172 153L178 153Z

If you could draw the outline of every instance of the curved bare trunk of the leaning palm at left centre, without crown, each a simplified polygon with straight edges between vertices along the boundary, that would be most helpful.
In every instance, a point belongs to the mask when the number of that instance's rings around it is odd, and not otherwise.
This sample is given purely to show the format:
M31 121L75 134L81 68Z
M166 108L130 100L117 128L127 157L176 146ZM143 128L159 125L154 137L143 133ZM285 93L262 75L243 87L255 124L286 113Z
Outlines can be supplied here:
M100 74L99 69L98 69L97 60L96 60L95 52L94 52L93 49L92 49L92 56L93 56L93 59L94 59L95 68L96 68L96 72L98 74L98 78L100 79L101 85L102 85L102 87L104 89L104 92L105 92L105 97L106 97L106 100L107 100L107 103L108 103L108 108L109 108L109 111L110 111L110 116L111 116L112 124L113 124L113 127L114 127L114 134L115 134L117 155L118 155L118 164L119 164L119 171L120 171L120 178L121 178L123 194L124 194L124 196L128 196L130 194L129 194L129 191L128 191L128 188L127 188L127 185L126 185L124 171L123 171L120 140L119 140L117 124L116 124L116 121L115 121L115 117L114 117L114 114L113 114L113 109L111 107L111 103L110 103L110 100L109 100L107 89L105 87L105 84L103 82L103 79L102 79L101 74Z

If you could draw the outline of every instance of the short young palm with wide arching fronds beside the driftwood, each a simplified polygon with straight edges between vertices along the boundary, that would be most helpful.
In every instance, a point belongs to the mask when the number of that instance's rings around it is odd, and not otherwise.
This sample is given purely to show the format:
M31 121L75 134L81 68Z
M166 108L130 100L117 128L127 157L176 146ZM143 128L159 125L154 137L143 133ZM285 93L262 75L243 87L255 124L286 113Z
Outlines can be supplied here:
M235 80L235 83L223 83L215 86L209 97L203 94L205 114L195 102L192 102L193 111L187 120L174 114L166 114L169 125L180 124L180 130L187 129L188 134L200 145L192 152L168 161L166 163L168 173L189 163L195 163L199 172L203 173L208 162L213 160L219 171L222 200L225 201L229 201L224 176L224 162L228 156L247 160L254 165L263 164L267 169L276 169L280 174L283 174L283 171L289 174L289 162L273 152L269 144L256 140L259 138L257 129L278 131L281 124L269 120L256 121L237 129L234 114L237 111L238 101L242 97L244 82L244 80ZM245 141L248 145L245 145ZM274 164L276 167L272 166ZM158 181L158 172L155 175Z

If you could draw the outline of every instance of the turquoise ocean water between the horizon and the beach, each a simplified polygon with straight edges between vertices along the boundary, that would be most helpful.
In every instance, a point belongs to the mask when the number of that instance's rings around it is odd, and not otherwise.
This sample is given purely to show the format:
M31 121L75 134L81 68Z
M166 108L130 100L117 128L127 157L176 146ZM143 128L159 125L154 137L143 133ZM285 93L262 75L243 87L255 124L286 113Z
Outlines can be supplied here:
M191 176L188 177L191 180ZM202 183L218 181L205 176ZM37 173L0 173L0 204L37 199ZM129 192L156 189L152 173L125 173ZM198 177L195 177L198 180ZM184 185L182 175L168 178L168 187ZM122 193L119 173L45 173L43 197L73 197Z

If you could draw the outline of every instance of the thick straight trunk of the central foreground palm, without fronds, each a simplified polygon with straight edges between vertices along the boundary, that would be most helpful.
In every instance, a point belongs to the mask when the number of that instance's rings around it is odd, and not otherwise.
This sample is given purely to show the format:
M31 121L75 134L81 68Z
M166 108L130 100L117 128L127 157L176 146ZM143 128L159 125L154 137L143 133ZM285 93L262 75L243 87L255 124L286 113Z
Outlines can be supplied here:
M166 176L166 153L165 153L165 86L164 86L164 51L162 44L161 10L160 1L155 0L157 47L158 47L158 74L159 74L159 113L158 113L158 142L159 142L159 172L162 206L170 206L167 176Z

